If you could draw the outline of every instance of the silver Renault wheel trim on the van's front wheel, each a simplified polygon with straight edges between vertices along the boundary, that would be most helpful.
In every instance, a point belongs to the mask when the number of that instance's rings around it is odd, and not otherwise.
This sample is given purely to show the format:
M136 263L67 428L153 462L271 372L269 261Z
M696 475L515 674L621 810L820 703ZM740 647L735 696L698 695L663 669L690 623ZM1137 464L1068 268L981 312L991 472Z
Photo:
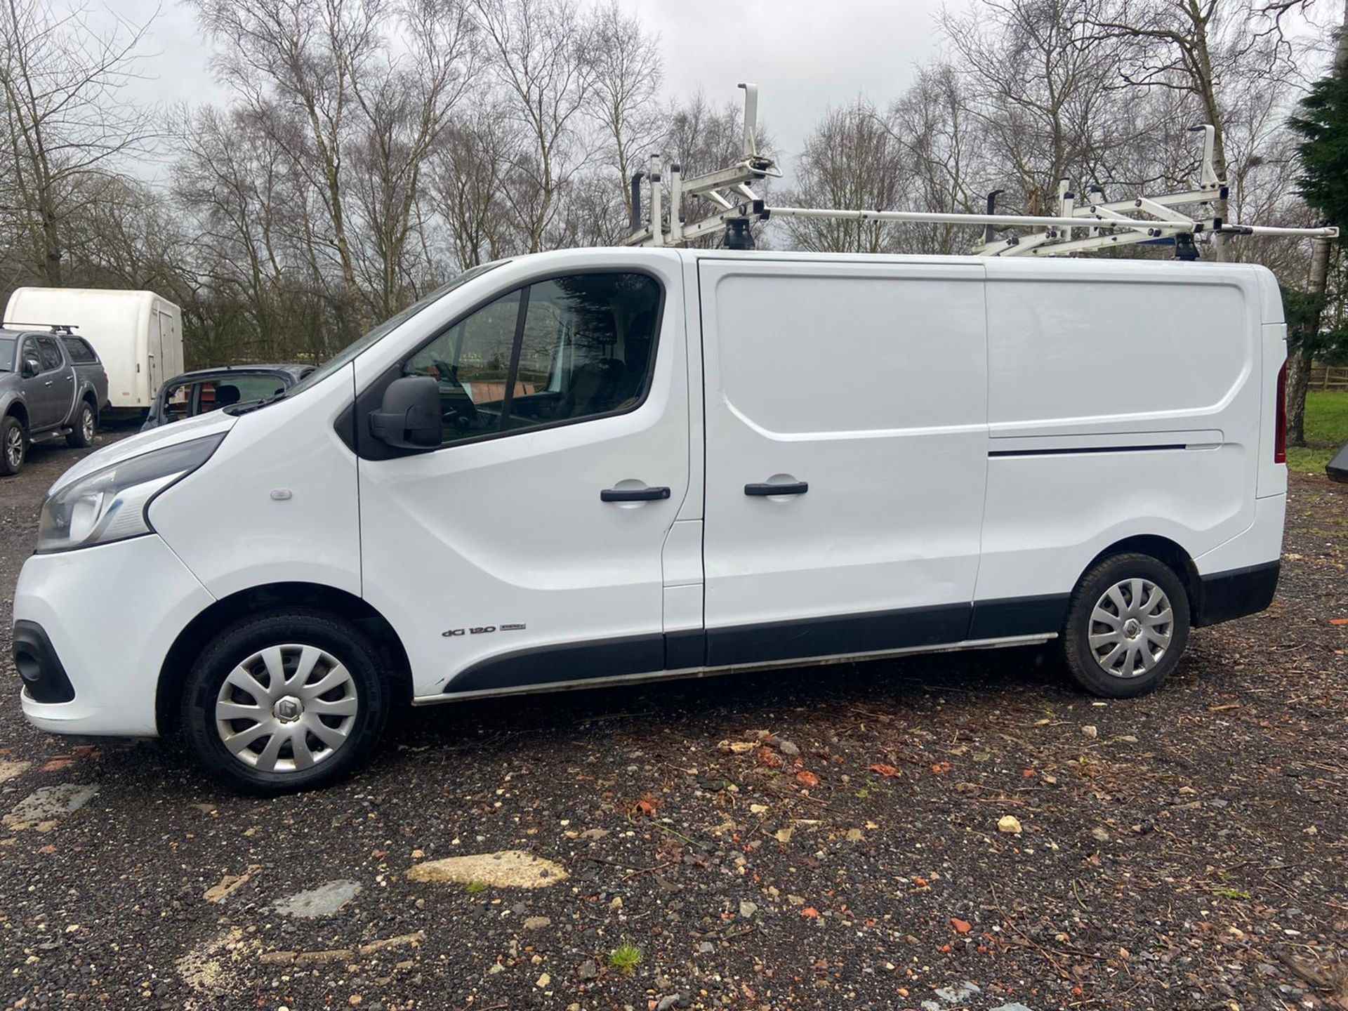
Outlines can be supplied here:
M225 749L259 772L303 772L350 739L360 694L350 671L326 650L283 643L235 666L216 696L216 732Z

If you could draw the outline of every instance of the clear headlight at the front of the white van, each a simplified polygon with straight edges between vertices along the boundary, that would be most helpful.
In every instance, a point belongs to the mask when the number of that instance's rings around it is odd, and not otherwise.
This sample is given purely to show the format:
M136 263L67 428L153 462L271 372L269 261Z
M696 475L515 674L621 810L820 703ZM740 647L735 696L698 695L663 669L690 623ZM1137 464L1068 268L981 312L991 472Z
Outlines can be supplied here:
M155 449L58 488L42 506L38 551L69 551L148 534L150 500L205 464L224 437Z

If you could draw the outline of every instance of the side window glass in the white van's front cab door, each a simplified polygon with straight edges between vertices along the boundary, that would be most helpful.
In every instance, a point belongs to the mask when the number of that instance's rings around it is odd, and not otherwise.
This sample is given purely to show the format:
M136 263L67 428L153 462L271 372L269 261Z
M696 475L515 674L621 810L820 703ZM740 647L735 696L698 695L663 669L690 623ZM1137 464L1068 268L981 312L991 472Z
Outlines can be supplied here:
M661 286L644 274L537 282L412 355L439 383L443 445L635 408L655 361Z

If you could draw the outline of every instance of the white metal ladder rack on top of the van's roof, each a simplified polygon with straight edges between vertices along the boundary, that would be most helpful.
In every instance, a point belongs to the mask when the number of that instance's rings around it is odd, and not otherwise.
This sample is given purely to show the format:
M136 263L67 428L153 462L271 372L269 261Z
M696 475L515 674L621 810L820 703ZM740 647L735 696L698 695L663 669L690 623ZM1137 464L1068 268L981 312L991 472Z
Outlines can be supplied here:
M625 245L685 245L716 232L723 232L727 249L752 249L755 221L772 217L832 218L837 221L892 221L968 225L983 229L983 241L969 252L975 256L1066 256L1077 252L1108 249L1138 243L1174 244L1175 259L1196 260L1198 235L1295 236L1301 239L1336 239L1339 229L1281 228L1273 225L1237 225L1215 214L1215 202L1225 201L1229 187L1213 166L1216 131L1209 124L1190 127L1202 132L1202 160L1198 186L1192 190L1155 195L1136 194L1107 201L1104 190L1092 186L1088 200L1080 201L1070 182L1058 182L1057 214L999 214L995 190L987 197L983 214L927 210L845 210L837 208L778 208L754 191L754 183L780 178L782 173L770 155L758 150L758 85L741 84L744 90L743 156L728 168L683 179L677 160L654 154L644 171L632 175L631 225ZM662 206L665 175L669 174L669 214ZM650 190L648 216L642 213L643 179ZM700 197L712 205L706 217L686 224L681 209L683 197ZM1197 213L1178 210L1194 206ZM998 232L1020 229L999 237ZM1027 233L1026 233L1027 229Z

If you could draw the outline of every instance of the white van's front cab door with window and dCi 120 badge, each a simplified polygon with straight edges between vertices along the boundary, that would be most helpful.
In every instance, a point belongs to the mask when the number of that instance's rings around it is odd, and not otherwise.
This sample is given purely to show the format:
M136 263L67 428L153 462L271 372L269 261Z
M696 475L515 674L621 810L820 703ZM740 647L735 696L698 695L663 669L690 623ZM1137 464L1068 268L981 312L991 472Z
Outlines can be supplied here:
M398 376L438 384L431 452L368 437ZM662 549L690 469L677 262L531 279L372 380L357 371L363 596L418 697L663 670Z

